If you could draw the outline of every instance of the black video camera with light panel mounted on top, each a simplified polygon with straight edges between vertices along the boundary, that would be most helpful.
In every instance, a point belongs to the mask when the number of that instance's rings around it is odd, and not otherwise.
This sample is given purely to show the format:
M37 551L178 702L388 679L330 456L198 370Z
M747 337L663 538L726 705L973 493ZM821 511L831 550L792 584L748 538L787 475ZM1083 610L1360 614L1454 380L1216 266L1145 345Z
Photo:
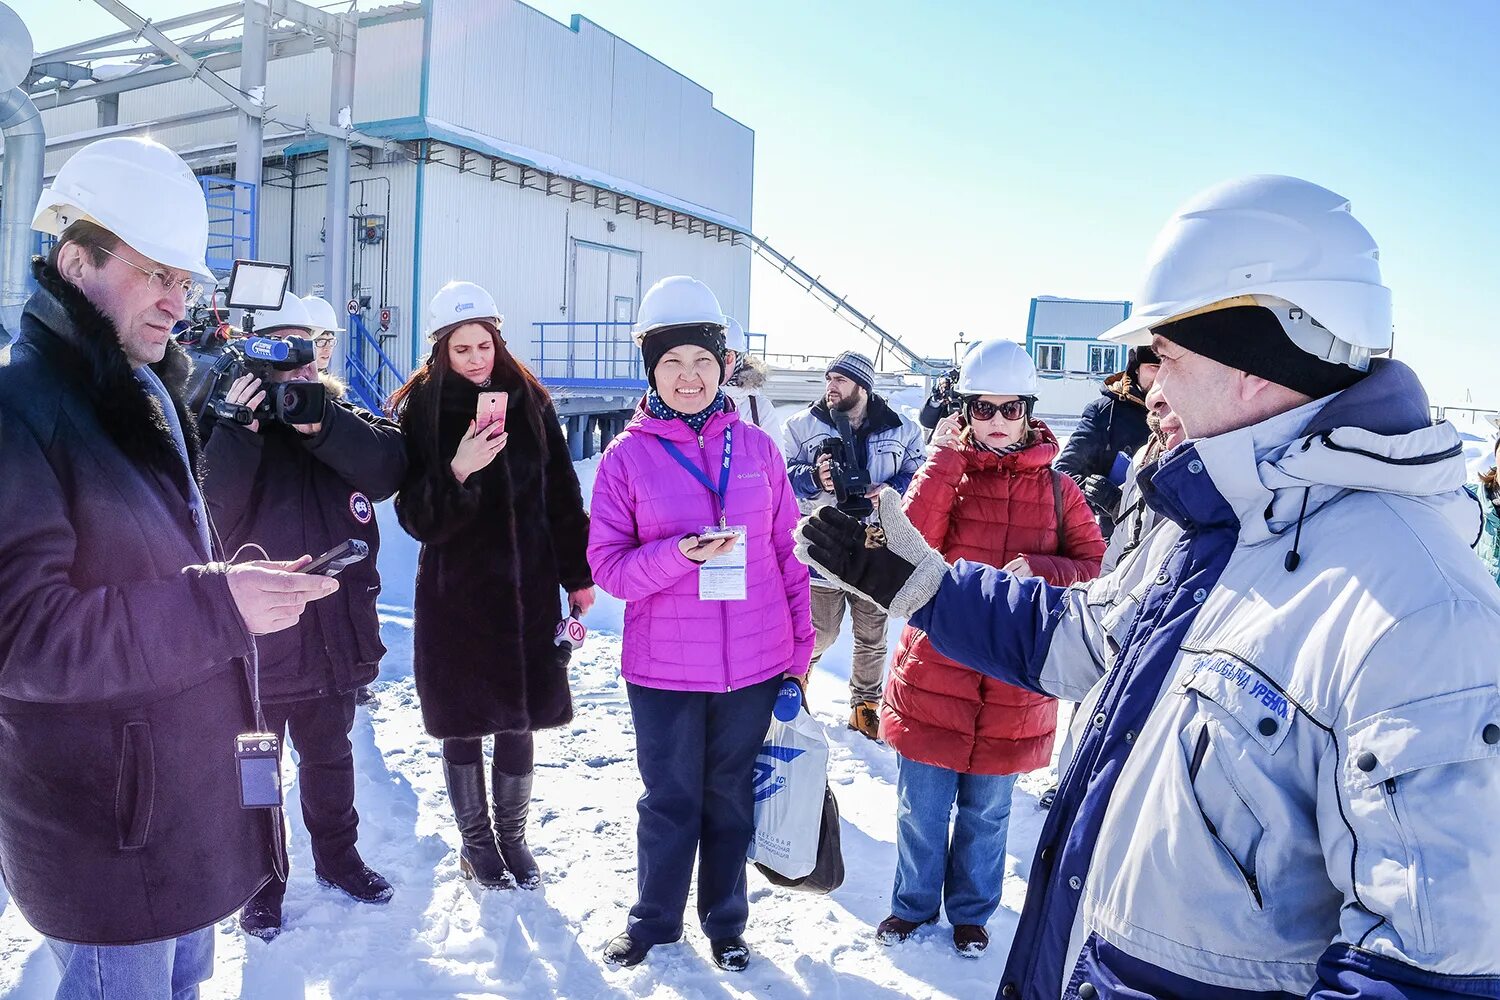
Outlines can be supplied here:
M249 424L279 420L285 424L315 424L322 420L327 394L322 382L272 382L272 372L296 372L314 363L309 337L255 336L255 310L280 309L290 270L285 264L236 261L225 304L244 310L244 336L236 337L228 324L195 324L182 340L194 358L189 405L198 420L210 412L219 420ZM226 397L236 379L250 373L264 382L266 399L254 411Z

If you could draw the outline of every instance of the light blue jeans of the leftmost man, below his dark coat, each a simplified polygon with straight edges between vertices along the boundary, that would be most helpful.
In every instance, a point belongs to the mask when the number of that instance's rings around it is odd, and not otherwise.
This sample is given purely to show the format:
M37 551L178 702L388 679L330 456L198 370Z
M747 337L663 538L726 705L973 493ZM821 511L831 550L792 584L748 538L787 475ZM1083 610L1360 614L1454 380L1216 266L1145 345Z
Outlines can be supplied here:
M213 976L212 927L152 945L46 943L63 972L57 1000L198 1000Z

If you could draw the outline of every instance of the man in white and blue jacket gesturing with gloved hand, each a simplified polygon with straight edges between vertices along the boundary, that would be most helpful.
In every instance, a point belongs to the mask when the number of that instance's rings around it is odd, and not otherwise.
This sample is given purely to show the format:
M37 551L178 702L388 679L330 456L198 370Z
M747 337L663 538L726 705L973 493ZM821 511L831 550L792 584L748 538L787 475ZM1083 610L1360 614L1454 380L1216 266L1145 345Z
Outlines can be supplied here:
M1198 195L1146 306L1186 441L1162 520L1077 588L888 547L822 510L808 561L945 655L1096 703L1047 816L999 996L1500 996L1500 591L1462 441L1390 346L1348 201L1292 177Z

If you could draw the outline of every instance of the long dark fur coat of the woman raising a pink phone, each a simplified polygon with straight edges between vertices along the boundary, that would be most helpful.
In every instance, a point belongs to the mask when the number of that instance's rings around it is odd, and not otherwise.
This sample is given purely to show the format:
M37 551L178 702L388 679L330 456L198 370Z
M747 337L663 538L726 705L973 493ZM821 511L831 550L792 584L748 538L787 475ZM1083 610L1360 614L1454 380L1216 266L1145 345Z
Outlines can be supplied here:
M410 466L396 513L423 543L412 670L423 723L438 738L573 718L568 654L554 636L564 613L558 588L592 583L588 514L550 400L498 376L490 388L510 393L510 441L462 486L448 462L480 390L453 375L434 379L400 415Z

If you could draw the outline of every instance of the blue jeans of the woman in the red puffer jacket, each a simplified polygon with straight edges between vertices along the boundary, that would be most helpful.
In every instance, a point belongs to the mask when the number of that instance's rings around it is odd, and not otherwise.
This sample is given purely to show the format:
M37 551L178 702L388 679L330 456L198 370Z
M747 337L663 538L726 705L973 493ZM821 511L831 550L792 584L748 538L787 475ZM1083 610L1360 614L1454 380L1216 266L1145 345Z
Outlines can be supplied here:
M984 925L1000 906L1012 774L958 774L896 756L896 886L891 913ZM954 802L958 814L952 817ZM952 817L952 838L948 820Z

